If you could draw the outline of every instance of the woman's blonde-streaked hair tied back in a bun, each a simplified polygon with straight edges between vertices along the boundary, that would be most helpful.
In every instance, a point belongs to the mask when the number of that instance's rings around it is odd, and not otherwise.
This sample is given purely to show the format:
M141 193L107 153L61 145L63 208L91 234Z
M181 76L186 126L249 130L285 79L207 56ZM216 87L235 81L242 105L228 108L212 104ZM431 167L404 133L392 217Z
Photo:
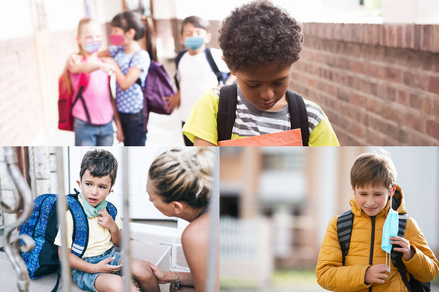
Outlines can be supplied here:
M163 152L148 171L150 187L162 201L185 202L192 208L209 204L215 152L209 147L190 147Z

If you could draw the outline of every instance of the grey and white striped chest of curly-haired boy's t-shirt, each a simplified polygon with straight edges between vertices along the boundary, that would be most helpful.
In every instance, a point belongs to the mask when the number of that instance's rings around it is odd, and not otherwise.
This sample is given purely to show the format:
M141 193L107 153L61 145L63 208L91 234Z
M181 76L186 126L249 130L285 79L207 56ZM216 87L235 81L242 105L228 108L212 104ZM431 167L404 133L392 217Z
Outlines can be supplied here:
M212 88L219 96L219 88ZM324 118L323 110L315 103L303 99L308 115L309 134ZM267 111L256 108L245 99L238 87L236 120L232 134L239 137L252 137L291 130L288 106L279 111Z

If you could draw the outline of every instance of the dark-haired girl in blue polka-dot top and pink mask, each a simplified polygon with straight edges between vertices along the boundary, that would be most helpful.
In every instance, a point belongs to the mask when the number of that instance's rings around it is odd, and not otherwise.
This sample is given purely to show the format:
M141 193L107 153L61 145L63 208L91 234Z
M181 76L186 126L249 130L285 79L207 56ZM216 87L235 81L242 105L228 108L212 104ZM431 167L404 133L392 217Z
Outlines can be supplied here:
M98 56L112 57L103 59L115 68L116 103L125 135L124 146L145 146L142 87L151 64L148 52L139 43L145 34L145 24L140 14L126 11L117 14L111 25L109 39L113 45Z

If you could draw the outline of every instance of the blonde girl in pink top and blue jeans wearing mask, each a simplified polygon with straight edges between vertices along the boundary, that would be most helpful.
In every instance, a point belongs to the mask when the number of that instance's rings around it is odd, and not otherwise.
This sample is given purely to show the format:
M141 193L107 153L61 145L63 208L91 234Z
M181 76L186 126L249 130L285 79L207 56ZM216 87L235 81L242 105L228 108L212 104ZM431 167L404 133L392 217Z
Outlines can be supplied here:
M115 70L111 63L103 62L97 51L102 45L101 26L90 18L82 19L76 36L79 61L69 63L64 70L66 90L73 91L72 116L76 146L112 146L114 118L117 139L124 140L122 126L111 95L109 74ZM82 91L82 99L76 99L81 79L88 80ZM84 84L82 82L81 84ZM76 100L76 102L75 102Z

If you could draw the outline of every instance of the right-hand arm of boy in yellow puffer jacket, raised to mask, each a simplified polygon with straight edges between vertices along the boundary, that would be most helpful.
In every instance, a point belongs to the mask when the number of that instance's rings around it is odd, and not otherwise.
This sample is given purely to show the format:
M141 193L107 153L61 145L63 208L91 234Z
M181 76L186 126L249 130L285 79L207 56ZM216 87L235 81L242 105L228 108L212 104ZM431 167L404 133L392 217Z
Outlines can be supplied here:
M410 274L421 282L432 281L439 275L439 262L432 250L428 247L424 234L422 234L421 229L419 229L419 226L413 218L407 220L404 235L405 240L401 240L400 237L398 239L397 241L399 243L396 244L401 245L401 249L395 250L403 253L407 251L406 254L409 256L410 252L413 253L413 257L411 258L403 254L403 263ZM410 245L407 245L407 241ZM393 244L392 242L393 241L390 243ZM409 248L410 250L407 250Z

